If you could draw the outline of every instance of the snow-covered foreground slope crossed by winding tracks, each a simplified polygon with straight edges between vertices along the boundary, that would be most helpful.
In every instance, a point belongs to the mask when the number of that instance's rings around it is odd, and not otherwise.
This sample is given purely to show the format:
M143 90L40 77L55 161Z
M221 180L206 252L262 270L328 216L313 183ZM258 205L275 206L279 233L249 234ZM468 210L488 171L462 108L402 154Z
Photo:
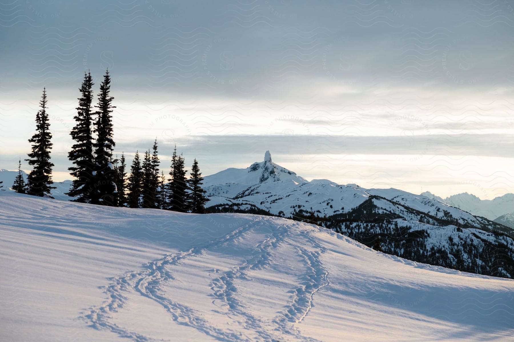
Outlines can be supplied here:
M0 341L432 341L514 335L514 280L246 214L0 191Z

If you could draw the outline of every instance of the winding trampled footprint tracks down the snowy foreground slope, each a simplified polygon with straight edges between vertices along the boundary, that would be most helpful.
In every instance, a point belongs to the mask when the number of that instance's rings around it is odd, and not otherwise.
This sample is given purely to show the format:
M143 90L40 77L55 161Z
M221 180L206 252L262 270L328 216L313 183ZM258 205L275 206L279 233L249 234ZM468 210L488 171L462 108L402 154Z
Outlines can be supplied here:
M260 220L261 225L265 224L266 218ZM242 226L228 235L212 240L208 244L202 244L191 248L189 251L166 255L151 261L140 271L127 272L122 276L111 278L113 282L105 288L108 300L101 306L89 308L82 318L89 321L96 329L108 329L121 337L128 337L134 341L157 341L154 338L131 331L128 328L120 327L112 322L111 314L127 304L128 297L123 293L134 290L161 305L178 324L192 327L222 341L254 341L255 338L253 336L245 336L235 330L219 329L212 326L208 320L203 318L193 308L183 305L173 298L164 296L162 291L160 291L160 286L164 281L175 279L172 272L167 270L167 268L173 267L181 260L198 256L214 247L230 244L255 228L255 223ZM309 238L308 231L302 232L302 237L306 238L319 251L309 251L307 248L296 244L292 239L287 242L287 244L295 247L303 259L306 272L299 279L298 286L289 291L291 293L289 303L282 312L271 321L264 321L252 315L249 310L245 310L245 305L237 298L237 287L234 285L235 280L248 279L248 271L265 269L272 264L274 262L272 259L273 250L280 244L285 243L289 233L290 228L287 225L281 225L278 229L270 230L269 235L254 247L251 251L251 256L244 260L242 264L234 266L213 278L210 283L210 289L214 297L212 304L214 304L214 301L219 300L228 305L230 317L237 317L236 323L242 325L244 331L255 333L258 340L279 341L284 336L289 336L299 341L315 342L318 340L302 336L295 327L295 324L300 323L311 309L315 293L328 284L327 271L320 260L322 247L317 244L315 239ZM218 313L222 312L218 311Z

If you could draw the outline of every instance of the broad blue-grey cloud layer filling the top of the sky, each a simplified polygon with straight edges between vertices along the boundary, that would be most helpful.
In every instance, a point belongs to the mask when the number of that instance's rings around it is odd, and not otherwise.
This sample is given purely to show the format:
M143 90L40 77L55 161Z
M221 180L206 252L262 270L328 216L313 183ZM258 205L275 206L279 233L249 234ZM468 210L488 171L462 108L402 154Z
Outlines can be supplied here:
M19 0L5 10L3 78L23 86L76 86L106 67L124 89L236 98L272 98L291 78L369 90L513 81L501 72L514 54L503 2Z

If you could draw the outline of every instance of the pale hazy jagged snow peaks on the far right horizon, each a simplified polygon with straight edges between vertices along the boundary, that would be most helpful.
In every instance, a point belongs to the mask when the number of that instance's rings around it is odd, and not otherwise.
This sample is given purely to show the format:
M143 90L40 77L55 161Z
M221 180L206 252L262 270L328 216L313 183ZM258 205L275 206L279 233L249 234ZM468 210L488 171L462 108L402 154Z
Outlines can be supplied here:
M473 215L483 216L490 220L514 211L514 194L508 193L494 199L480 199L467 192L452 195L446 198L435 196L430 192L424 192L430 198L435 198L452 207L460 208Z

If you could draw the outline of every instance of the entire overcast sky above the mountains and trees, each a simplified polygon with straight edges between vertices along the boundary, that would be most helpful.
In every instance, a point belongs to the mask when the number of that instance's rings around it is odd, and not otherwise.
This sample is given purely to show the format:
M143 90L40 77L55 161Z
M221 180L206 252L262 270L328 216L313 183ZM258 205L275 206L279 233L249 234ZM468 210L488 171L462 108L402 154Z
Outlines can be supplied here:
M307 179L440 196L514 192L514 3L0 0L0 168L46 86L54 180L84 71L109 68L116 152L157 137L204 175L273 161ZM28 171L25 164L24 169Z

